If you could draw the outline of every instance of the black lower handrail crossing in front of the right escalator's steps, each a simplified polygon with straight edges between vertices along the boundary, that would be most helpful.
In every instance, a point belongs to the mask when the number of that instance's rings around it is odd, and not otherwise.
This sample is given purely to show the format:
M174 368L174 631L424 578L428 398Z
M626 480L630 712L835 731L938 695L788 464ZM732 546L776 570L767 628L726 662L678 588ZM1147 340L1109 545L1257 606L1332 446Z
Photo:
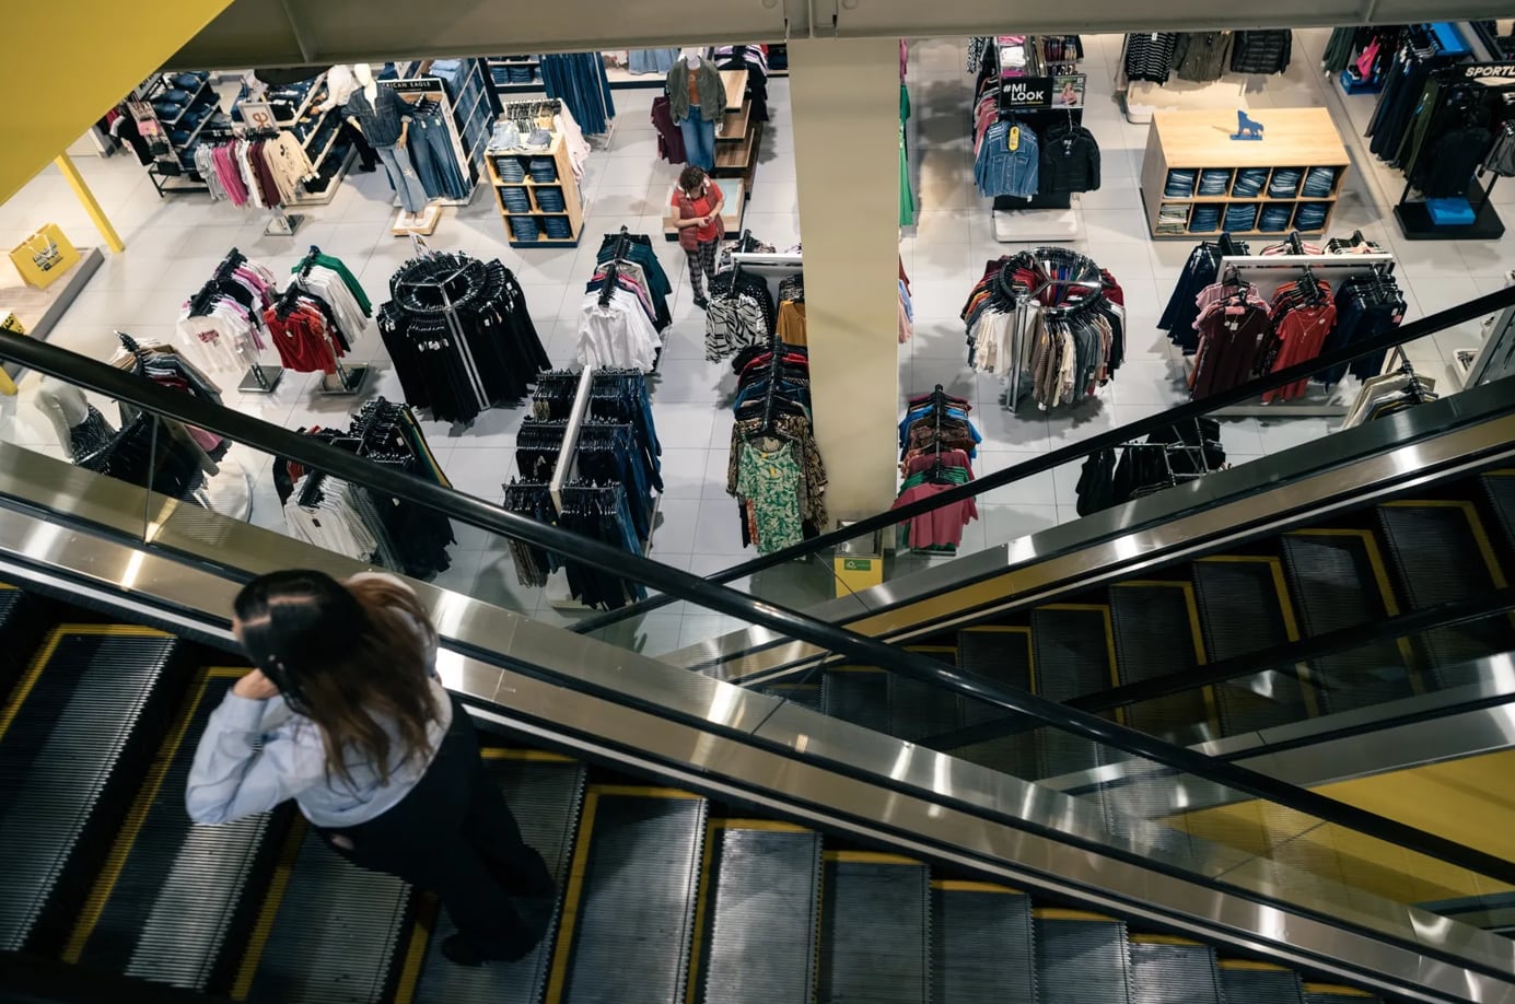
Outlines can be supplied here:
M1398 613L1391 618L1338 628L1335 631L1315 635L1314 638L1304 638L1297 642L1285 642L1283 645L1274 645L1271 648L1247 653L1245 656L1235 656L1221 662L1194 666L1192 669L1168 672L1160 677L1138 680L1135 683L1123 683L1121 686L1110 688L1109 691L1086 694L1083 697L1062 701L1062 706L1079 712L1088 712L1091 715L1112 712L1118 707L1141 704L1142 701L1153 701L1173 694L1188 694L1200 688L1226 683L1227 680L1236 680L1238 677L1250 677L1259 672L1267 672L1268 669L1297 665L1307 659L1335 656L1338 653L1362 648L1364 645L1371 645L1373 642L1392 641L1435 628L1457 627L1459 624L1482 621L1485 618L1498 613L1509 613L1512 610L1515 610L1515 589L1495 589L1494 592L1482 594L1473 600L1438 603L1421 610L1410 610L1409 613ZM962 728L936 733L935 736L926 736L924 739L917 739L915 742L917 745L923 745L930 750L951 751L979 742L988 742L991 739L1006 739L1009 736L1015 736L1023 731L1033 731L1036 728L1041 728L1041 724L1027 722L1023 718L995 718L977 725L965 725Z

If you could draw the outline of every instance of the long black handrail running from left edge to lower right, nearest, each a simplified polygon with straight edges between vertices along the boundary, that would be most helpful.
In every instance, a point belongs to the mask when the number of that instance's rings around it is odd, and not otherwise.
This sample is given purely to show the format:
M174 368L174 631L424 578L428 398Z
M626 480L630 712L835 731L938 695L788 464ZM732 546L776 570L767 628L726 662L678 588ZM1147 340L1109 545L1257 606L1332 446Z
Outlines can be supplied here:
M109 363L5 330L0 330L0 359L12 359L38 373L67 380L117 401L135 404L148 413L206 429L270 456L295 460L308 469L324 471L383 495L435 509L448 518L482 530L556 551L570 560L598 566L620 578L642 583L679 600L741 618L780 636L815 645L823 651L847 656L859 665L877 666L933 688L997 704L1009 712L1039 719L1053 728L1070 731L1083 741L1112 747L1176 772L1192 774L1324 822L1333 822L1374 839L1404 847L1456 868L1515 884L1515 862L1235 763L1162 742L1145 733L1064 707L1026 691L964 674L956 666L895 648L774 603L754 600L747 594L712 585L698 575L645 559L641 554L570 533L556 525L527 519L473 495L371 463L312 436L159 386Z

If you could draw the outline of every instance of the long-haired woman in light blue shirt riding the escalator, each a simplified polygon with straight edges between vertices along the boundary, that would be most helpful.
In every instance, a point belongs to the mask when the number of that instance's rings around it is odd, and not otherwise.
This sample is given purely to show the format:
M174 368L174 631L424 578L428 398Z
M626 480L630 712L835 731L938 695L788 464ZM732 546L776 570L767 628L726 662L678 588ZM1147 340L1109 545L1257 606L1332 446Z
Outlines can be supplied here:
M436 677L436 628L415 594L376 572L345 583L273 572L238 594L232 630L253 669L200 737L186 795L195 822L292 798L342 857L441 896L458 925L447 959L530 953L553 880Z

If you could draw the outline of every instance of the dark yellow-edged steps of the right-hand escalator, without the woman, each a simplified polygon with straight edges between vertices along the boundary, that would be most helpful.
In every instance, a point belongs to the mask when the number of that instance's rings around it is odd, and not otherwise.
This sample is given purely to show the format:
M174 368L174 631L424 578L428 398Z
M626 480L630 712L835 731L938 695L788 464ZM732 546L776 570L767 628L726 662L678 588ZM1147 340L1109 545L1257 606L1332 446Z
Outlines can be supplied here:
M1503 463L1503 462L1501 462ZM1106 713L1177 744L1198 744L1371 709L1468 683L1470 660L1515 648L1495 613L1404 638L1382 636L1310 660L1182 688L1209 665L1245 660L1404 613L1498 595L1515 568L1515 469L1406 489L1373 506L1276 536L1142 568L1094 589L1065 589L926 636L912 651L1047 700L1098 709L1118 688L1168 680L1177 692ZM770 694L1029 780L1097 766L1088 745L1021 734L982 739L994 707L854 665L801 669Z

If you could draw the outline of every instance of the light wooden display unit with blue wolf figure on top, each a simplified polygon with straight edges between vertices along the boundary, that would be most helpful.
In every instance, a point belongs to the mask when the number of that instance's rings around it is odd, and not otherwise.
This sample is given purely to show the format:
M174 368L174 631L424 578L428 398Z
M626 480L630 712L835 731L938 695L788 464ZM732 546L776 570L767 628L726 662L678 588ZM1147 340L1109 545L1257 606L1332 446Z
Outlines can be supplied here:
M1232 111L1185 111L1185 112L1154 112L1151 127L1147 130L1147 151L1142 157L1141 192L1147 206L1147 224L1151 236L1186 241L1197 236L1212 236L1221 230L1183 230L1170 233L1157 230L1157 218L1165 206L1224 206L1238 203L1245 206L1264 206L1267 203L1330 203L1326 220L1320 227L1304 233L1324 233L1330 227L1330 220L1336 212L1336 198L1341 195L1342 182L1351 161L1347 148L1341 142L1341 135L1332 123L1330 112L1324 108L1274 108L1259 109L1251 114L1262 123L1262 139L1232 139L1236 132L1236 114ZM1167 195L1168 171L1182 168L1191 171L1224 170L1235 173L1241 168L1268 168L1268 180L1273 171L1297 170L1303 173L1309 168L1329 167L1336 171L1329 195L1301 195L1298 188L1292 195L1270 195L1267 182L1259 195ZM1292 220L1291 220L1292 224ZM1292 227L1291 227L1292 229ZM1280 236L1288 230L1233 230L1241 236Z

